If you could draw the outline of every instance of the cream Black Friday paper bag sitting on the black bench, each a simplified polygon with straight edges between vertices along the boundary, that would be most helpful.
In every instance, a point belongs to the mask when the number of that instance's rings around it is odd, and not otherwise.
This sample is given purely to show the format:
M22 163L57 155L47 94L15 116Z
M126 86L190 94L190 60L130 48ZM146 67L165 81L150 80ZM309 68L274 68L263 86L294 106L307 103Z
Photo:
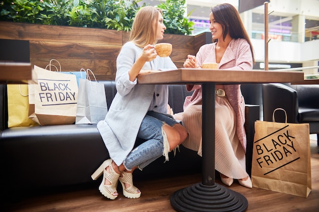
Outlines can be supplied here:
M38 84L30 86L34 86L34 114L39 124L73 124L78 94L76 76L48 71L37 66L34 66L34 71L38 75ZM29 111L29 115L32 116L32 111Z

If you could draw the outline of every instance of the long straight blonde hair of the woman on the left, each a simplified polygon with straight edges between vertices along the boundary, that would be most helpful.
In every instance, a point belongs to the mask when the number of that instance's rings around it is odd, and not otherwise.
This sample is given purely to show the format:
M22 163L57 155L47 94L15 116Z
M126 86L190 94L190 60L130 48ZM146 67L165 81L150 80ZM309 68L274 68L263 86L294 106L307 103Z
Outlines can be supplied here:
M141 8L133 21L129 41L141 48L148 44L154 45L157 42L156 31L159 13L163 14L161 10L152 6ZM154 23L155 28L153 27Z

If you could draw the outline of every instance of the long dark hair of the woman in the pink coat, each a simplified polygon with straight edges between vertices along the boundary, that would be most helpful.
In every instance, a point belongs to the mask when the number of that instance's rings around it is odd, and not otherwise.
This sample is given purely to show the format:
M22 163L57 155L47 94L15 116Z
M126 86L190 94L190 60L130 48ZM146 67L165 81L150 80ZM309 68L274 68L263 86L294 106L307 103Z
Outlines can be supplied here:
M240 14L234 6L231 4L221 4L211 8L212 15L217 23L220 23L223 27L223 40L225 40L227 34L233 39L244 38L250 45L251 55L253 57L253 63L255 63L253 46L246 32ZM213 40L216 42L217 40Z

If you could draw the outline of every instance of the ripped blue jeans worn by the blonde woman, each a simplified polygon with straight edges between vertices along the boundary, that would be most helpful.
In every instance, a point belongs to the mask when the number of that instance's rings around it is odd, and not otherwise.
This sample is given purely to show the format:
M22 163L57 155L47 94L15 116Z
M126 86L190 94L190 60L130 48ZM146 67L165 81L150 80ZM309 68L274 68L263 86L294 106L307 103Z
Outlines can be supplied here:
M170 116L154 111L148 111L138 132L135 147L126 157L123 164L127 170L134 167L143 169L151 162L163 155L164 138L162 127L164 124L173 126L176 120Z

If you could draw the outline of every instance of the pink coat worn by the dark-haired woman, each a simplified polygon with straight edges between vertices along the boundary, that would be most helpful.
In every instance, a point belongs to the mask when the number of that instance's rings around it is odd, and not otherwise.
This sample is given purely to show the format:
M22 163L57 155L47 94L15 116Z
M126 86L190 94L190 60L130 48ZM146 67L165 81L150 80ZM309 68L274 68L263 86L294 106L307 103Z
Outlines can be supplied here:
M203 45L196 54L197 66L203 63L216 63L216 43ZM218 65L223 70L252 70L253 60L250 46L245 39L232 40ZM236 113L236 132L243 148L246 150L245 133L245 100L238 84L224 85L226 97ZM187 97L184 102L184 110L189 105L195 105L202 100L201 85L187 85L189 91L195 90L191 97Z

